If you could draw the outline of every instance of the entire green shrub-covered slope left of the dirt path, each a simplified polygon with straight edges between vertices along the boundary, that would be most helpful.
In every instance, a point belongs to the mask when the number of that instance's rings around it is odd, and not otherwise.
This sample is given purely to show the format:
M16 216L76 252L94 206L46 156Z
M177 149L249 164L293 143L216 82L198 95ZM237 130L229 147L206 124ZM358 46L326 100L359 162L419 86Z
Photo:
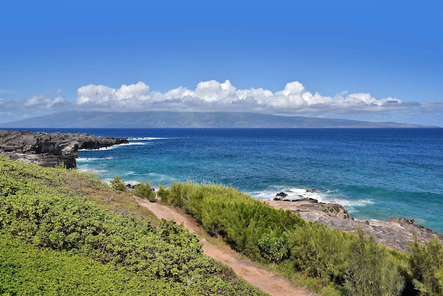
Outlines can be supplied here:
M0 157L0 294L262 295L96 177Z

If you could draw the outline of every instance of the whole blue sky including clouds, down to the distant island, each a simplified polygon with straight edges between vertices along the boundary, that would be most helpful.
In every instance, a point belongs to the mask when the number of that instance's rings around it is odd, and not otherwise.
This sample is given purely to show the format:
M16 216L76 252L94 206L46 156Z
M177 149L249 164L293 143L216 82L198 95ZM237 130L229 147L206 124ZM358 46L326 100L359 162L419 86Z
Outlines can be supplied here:
M0 1L0 123L74 109L443 126L442 1Z

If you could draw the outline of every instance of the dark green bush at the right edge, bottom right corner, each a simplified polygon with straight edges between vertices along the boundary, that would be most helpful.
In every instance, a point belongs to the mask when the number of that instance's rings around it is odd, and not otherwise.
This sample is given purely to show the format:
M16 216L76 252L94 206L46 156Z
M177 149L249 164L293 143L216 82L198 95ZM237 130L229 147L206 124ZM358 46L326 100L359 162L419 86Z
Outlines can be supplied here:
M442 295L443 245L437 236L424 245L420 245L415 237L408 250L413 285L419 295Z

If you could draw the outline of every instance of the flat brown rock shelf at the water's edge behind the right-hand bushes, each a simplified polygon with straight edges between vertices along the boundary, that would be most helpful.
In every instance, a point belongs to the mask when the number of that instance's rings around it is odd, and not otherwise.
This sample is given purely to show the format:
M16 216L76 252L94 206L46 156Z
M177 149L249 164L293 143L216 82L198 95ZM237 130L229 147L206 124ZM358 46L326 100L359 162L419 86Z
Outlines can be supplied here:
M307 190L312 192L315 189ZM378 243L401 252L407 252L408 244L414 241L414 234L420 243L429 241L434 236L438 236L443 243L442 234L421 225L415 225L412 219L358 220L350 216L340 204L318 202L318 200L311 198L289 200L284 196L284 193L278 193L274 200L265 200L264 202L275 209L289 209L300 214L305 220L322 223L345 232L356 233L356 229L361 227L366 235L373 234Z

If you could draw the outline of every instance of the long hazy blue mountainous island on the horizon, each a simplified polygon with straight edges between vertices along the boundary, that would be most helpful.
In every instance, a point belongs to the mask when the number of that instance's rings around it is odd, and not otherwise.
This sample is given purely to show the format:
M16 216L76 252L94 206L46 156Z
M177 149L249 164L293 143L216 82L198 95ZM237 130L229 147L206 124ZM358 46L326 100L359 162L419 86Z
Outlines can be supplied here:
M429 125L320 119L242 112L61 112L0 128L437 128Z

